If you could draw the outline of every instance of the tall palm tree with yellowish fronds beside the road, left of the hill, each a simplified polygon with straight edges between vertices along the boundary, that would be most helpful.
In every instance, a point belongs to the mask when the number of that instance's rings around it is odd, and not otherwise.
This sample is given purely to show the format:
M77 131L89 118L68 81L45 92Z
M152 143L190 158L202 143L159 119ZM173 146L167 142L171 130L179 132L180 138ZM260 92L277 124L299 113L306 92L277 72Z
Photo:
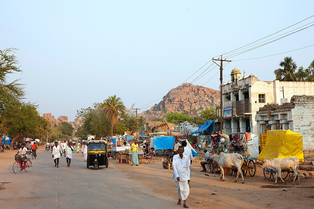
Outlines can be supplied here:
M124 106L120 97L109 96L106 101L101 105L101 108L105 109L106 119L110 118L111 122L111 137L113 135L113 124L117 123L118 116L123 114L126 107Z

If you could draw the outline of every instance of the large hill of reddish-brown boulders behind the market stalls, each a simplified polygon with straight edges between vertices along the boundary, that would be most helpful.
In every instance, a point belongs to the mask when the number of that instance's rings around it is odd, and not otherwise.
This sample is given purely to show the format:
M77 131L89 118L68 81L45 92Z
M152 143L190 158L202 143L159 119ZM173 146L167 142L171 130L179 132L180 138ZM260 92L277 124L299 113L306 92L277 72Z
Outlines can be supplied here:
M159 104L139 116L143 116L146 121L164 117L172 112L187 112L190 116L200 116L202 110L215 108L219 104L219 91L185 83L171 89Z

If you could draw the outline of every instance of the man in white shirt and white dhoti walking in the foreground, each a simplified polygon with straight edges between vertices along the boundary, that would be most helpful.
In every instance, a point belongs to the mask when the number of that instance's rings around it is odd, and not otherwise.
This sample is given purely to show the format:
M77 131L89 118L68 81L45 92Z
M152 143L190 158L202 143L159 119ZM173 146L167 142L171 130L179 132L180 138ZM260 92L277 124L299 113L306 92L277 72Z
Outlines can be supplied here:
M187 196L190 194L190 160L186 155L183 155L184 147L179 146L179 154L173 156L173 177L176 180L176 194L178 197L178 205L181 205L183 200L183 207L188 208L185 204Z

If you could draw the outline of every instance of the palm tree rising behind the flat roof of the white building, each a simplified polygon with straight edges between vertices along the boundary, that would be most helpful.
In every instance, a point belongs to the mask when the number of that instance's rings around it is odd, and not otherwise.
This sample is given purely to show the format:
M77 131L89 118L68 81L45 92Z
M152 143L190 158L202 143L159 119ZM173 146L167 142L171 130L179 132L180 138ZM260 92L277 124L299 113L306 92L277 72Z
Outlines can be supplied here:
M277 70L274 70L276 75L276 80L279 81L297 81L297 77L295 75L295 70L297 68L296 63L293 62L293 59L288 56L284 57L284 60L279 63L280 67Z

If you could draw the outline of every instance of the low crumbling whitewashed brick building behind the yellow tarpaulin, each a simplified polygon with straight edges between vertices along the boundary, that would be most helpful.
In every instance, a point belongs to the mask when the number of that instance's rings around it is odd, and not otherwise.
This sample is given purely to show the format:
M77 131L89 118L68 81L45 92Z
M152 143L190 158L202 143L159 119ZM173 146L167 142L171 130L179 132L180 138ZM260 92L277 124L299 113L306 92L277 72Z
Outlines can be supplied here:
M257 111L257 134L284 129L300 133L304 156L314 156L314 96L294 95L290 103L265 105Z

